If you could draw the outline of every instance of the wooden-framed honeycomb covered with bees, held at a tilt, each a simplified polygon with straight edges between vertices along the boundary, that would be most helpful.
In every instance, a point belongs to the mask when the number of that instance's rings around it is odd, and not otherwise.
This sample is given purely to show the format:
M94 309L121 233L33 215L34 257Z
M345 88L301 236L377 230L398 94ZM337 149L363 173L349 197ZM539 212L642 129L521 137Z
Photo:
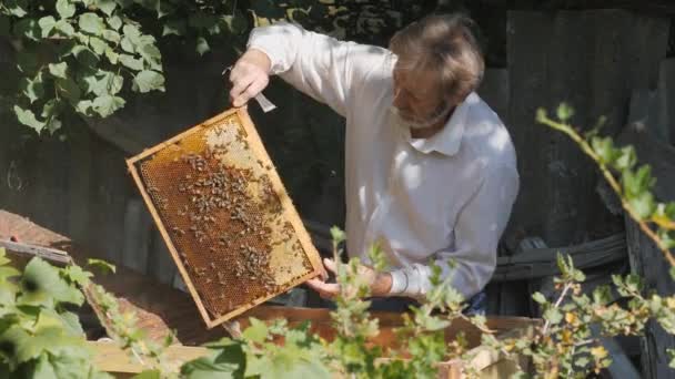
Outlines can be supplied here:
M319 275L319 253L244 109L128 166L208 327Z

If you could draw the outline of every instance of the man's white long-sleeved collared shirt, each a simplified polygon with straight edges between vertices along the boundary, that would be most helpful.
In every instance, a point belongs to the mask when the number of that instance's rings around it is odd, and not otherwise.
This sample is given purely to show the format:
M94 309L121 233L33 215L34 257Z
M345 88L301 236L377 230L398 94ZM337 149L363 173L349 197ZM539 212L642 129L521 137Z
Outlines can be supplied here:
M272 74L346 119L350 256L369 262L367 248L379 243L392 267L392 296L422 299L432 262L465 298L478 293L518 191L515 150L490 106L472 93L442 131L415 140L391 119L389 50L290 23L254 29L248 48L270 58Z

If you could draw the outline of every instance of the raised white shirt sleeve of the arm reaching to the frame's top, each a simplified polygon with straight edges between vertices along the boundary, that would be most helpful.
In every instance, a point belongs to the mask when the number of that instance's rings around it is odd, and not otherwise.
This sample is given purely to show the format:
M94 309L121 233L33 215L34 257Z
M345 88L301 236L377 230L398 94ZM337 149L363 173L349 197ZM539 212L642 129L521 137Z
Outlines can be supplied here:
M382 48L339 41L289 22L253 29L248 48L270 58L272 74L343 116L369 73L391 55Z

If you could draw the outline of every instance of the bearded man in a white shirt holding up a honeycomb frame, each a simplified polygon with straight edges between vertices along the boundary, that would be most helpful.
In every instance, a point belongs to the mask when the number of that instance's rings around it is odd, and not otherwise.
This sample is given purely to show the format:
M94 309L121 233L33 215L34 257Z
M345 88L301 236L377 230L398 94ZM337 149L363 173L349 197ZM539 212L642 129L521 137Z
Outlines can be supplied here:
M424 299L435 263L469 299L494 272L518 174L508 132L474 93L484 62L470 22L427 17L390 50L279 23L254 29L232 69L234 106L278 74L346 119L346 250L367 263L379 243L392 267L362 268L374 297ZM339 291L308 285L324 298Z

